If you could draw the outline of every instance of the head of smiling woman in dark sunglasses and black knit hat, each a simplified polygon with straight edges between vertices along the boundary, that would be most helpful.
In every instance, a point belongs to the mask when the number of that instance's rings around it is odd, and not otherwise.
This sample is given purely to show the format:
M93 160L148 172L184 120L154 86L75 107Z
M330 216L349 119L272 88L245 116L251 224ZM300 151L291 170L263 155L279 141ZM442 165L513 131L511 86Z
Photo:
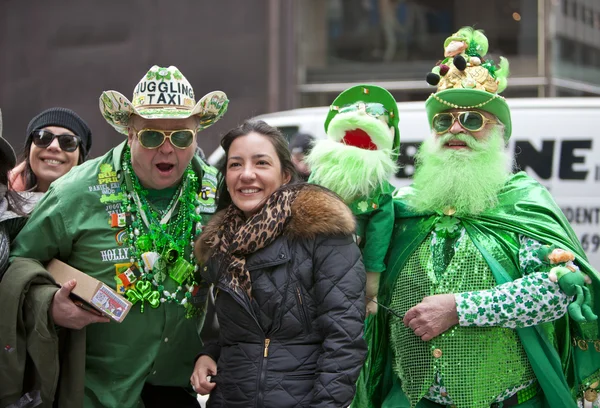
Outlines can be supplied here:
M77 113L50 108L27 126L22 161L11 172L16 191L45 193L50 184L87 158L92 132Z

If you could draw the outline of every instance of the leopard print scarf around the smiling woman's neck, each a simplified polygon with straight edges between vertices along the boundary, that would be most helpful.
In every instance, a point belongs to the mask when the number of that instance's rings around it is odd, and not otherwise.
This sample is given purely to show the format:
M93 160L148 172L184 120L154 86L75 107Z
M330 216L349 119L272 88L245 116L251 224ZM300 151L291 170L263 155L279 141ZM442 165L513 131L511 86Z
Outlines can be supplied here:
M292 214L292 204L302 185L280 188L267 199L262 209L249 219L235 205L231 204L210 247L215 255L223 255L227 264L225 275L229 286L235 291L245 291L252 299L252 282L246 268L246 255L268 246L279 237Z

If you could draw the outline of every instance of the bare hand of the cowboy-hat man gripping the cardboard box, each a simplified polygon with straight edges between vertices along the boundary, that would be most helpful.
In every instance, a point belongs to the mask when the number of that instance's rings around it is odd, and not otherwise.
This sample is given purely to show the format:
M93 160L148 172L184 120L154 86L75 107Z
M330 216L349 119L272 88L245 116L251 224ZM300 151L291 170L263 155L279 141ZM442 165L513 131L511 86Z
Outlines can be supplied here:
M69 295L75 285L77 282L72 279L54 294L50 309L54 324L67 329L79 330L90 323L108 323L110 321L108 317L87 312L73 303Z

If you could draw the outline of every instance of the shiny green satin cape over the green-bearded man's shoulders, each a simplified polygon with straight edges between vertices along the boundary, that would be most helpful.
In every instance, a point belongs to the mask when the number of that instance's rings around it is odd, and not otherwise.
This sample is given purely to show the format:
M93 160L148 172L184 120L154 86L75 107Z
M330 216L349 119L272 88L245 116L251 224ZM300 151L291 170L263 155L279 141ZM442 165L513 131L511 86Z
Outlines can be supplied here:
M427 238L438 214L416 214L405 199L412 187L401 189L394 197L396 225L388 252L386 273L382 276L378 301L389 306L398 273L414 250ZM498 284L522 276L518 243L509 234L521 234L545 244L572 251L581 270L592 279L594 299L600 299L600 274L588 263L581 245L550 193L525 173L512 176L499 193L499 203L478 217L460 221L479 248ZM490 254L501 254L493 258ZM600 302L594 304L600 313ZM388 347L388 314L377 313L367 323L365 336L369 354L357 386L353 407L380 407L394 379L392 354ZM600 351L593 340L600 339L598 323L578 324L565 315L552 323L517 329L532 368L544 391L545 405L575 407L574 396L581 396L590 382L600 379ZM573 347L573 336L592 340L587 350Z

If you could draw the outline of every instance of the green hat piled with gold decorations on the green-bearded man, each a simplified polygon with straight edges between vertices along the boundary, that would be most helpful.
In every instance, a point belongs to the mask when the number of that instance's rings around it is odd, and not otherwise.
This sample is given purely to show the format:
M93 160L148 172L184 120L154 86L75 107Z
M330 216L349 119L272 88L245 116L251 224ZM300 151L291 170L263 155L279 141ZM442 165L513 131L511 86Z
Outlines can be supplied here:
M433 117L442 111L480 109L493 114L502 122L505 127L504 140L508 141L512 133L510 109L506 100L500 96L500 92L506 88L508 61L500 57L500 63L496 66L492 60L483 60L487 52L487 38L482 30L463 27L449 39L464 39L466 42L468 50L463 56L467 60L466 68L460 70L448 61L444 70L439 71L441 78L437 92L432 93L425 102L430 126ZM448 40L445 45L447 43ZM470 55L471 50L473 55ZM479 53L475 53L475 50Z

